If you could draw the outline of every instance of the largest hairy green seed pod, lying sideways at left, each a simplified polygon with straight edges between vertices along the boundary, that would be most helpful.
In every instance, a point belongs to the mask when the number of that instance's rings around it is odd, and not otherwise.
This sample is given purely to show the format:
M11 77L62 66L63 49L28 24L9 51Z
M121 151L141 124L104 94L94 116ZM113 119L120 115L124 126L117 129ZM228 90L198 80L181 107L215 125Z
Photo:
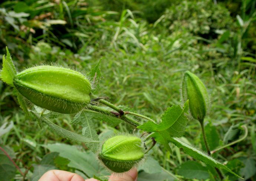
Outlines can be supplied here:
M89 80L68 68L28 68L14 76L13 84L20 94L35 105L58 113L76 113L91 100Z

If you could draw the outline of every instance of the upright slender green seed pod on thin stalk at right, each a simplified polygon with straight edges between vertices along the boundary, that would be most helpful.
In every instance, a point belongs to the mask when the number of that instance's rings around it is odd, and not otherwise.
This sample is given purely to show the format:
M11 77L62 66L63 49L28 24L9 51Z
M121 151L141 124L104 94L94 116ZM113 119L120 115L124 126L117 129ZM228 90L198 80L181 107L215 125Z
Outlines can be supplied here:
M186 71L182 83L183 100L189 99L191 115L203 121L209 107L209 95L202 81L190 71Z

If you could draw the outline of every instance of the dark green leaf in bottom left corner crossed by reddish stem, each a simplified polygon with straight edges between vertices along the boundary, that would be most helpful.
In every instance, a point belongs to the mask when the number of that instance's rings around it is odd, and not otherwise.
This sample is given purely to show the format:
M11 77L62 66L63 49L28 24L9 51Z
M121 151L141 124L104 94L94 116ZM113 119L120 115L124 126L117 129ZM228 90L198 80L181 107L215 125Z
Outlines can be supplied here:
M1 147L10 155L12 159L15 158L15 154L11 148L2 145ZM15 172L16 167L12 161L10 161L6 154L0 150L0 180L12 180L12 178L15 176Z

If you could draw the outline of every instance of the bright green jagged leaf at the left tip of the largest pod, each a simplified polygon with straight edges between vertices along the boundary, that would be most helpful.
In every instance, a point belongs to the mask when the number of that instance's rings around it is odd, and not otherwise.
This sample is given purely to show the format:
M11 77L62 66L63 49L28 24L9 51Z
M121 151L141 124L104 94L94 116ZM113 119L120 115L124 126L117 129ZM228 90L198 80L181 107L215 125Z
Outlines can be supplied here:
M5 83L9 84L10 86L13 86L13 77L17 74L11 55L9 53L8 48L6 47L7 56L6 59L3 56L3 68L0 72L0 78Z

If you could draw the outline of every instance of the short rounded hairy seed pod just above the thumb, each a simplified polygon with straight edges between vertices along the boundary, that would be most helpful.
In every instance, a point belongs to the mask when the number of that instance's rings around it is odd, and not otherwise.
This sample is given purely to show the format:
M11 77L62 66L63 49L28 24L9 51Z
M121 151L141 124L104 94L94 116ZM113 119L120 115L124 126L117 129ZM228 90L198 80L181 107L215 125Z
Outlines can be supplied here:
M131 135L118 135L104 142L98 158L103 164L117 173L129 171L144 157L140 138Z

